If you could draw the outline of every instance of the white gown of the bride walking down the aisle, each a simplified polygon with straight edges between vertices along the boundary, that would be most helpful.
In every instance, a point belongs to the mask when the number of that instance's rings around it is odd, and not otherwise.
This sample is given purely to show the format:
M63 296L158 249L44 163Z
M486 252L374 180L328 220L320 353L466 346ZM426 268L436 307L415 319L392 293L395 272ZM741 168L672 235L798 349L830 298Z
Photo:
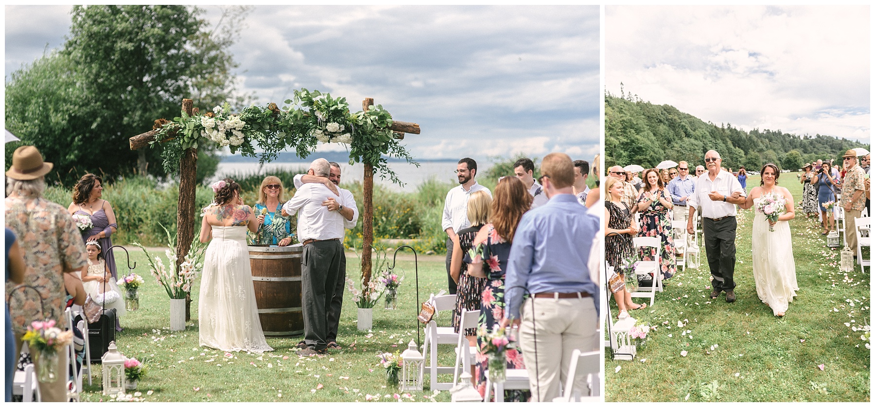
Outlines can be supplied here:
M753 200L754 207L758 200ZM790 235L789 222L779 221L774 225L774 232L770 232L766 215L756 210L753 212L753 281L757 285L757 296L777 315L778 312L787 312L789 303L799 291L793 236Z

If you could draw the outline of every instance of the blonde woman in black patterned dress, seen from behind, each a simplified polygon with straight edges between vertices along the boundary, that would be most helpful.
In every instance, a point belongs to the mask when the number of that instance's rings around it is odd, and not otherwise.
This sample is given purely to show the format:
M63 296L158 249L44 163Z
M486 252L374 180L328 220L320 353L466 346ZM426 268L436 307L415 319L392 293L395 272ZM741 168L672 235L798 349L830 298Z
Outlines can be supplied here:
M450 276L458 284L456 310L452 312L452 327L455 328L456 333L458 333L458 324L461 323L462 310L479 310L480 297L486 288L486 278L472 277L468 274L468 263L464 261L463 257L473 247L474 236L477 235L480 228L483 228L483 225L489 220L491 205L492 196L486 193L486 191L478 191L468 197L468 221L471 222L472 226L458 231L458 242L455 243L456 246L452 249ZM477 345L477 337L474 336L476 334L476 328L465 330L465 336L472 346Z

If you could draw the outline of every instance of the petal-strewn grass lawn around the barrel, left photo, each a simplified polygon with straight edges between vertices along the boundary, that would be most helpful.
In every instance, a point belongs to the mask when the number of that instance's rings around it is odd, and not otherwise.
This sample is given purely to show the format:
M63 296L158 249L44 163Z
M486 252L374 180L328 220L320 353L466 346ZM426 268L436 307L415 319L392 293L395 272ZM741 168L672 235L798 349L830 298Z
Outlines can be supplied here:
M224 352L199 346L198 298L199 286L193 288L192 321L182 332L170 331L170 301L164 289L148 270L144 253L130 248L131 263L137 262L135 272L144 277L140 288L140 309L128 312L122 319L123 333L116 335L119 351L127 357L149 365L147 375L139 382L137 399L150 402L354 402L377 396L380 401L395 401L397 389L386 387L384 370L377 365L378 352L403 351L408 342L416 340L416 280L413 256L399 254L395 270L405 276L399 289L398 309L374 308L374 331L360 332L356 327L358 313L347 295L340 319L338 342L342 350L330 351L326 356L299 358L294 346L297 338L268 338L273 352L258 354L235 353L226 359ZM121 251L121 250L119 250ZM402 253L404 253L402 251ZM409 253L409 251L407 251ZM154 250L153 256L164 256L164 249ZM124 256L116 252L119 272L124 273ZM402 261L402 258L404 261ZM348 276L359 275L359 260L346 254ZM419 295L422 301L430 292L446 289L444 256L419 256ZM374 273L377 273L374 270ZM200 279L199 279L200 281ZM449 324L450 313L439 315L438 324ZM424 339L424 337L423 337ZM353 347L352 345L355 344ZM441 366L455 360L453 346L442 346L439 352ZM100 358L100 355L92 355ZM92 365L94 385L84 382L82 401L109 401L102 395L100 364ZM400 395L402 401L449 402L450 394L442 391L435 395L428 389ZM441 382L452 380L441 375ZM389 395L389 396L387 396Z

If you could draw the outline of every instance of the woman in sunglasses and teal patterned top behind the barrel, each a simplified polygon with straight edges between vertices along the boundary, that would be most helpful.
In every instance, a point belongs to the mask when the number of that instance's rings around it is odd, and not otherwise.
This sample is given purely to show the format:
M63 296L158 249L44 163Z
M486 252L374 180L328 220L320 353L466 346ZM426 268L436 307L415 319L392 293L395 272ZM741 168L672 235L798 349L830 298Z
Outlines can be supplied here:
M255 202L255 222L258 230L252 239L253 244L275 244L288 246L297 243L294 216L283 216L283 181L269 175L262 180L258 201Z

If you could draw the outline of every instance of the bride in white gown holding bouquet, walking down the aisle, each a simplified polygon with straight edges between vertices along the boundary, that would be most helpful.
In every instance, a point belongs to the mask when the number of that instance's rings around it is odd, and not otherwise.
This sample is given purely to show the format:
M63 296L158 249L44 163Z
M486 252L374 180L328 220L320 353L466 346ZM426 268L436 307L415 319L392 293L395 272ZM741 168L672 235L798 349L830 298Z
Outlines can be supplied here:
M796 291L799 291L799 285L796 284L796 263L793 259L793 236L790 234L788 222L795 218L793 195L787 188L776 185L781 173L774 164L764 165L760 174L760 186L751 190L745 205L740 207L754 207L767 193L782 195L787 200L787 212L781 214L774 223L759 210L754 210L751 239L753 281L757 285L757 296L772 308L774 316L783 317L789 303L796 296ZM769 225L774 225L774 231L769 230Z

